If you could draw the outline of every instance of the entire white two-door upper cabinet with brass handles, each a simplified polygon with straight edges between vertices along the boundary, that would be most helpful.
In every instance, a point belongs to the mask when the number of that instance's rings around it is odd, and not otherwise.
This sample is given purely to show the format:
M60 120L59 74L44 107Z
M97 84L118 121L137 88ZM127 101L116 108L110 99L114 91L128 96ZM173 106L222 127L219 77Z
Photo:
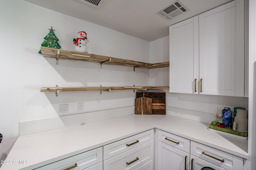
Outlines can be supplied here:
M232 1L170 26L170 92L247 96L244 11Z

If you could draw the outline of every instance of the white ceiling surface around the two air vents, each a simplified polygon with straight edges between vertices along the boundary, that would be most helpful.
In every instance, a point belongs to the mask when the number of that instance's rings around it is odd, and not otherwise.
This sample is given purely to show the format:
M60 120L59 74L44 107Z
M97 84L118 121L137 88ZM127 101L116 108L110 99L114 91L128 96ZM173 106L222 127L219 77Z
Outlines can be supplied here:
M122 33L154 41L169 35L169 26L231 0L180 0L190 11L167 20L158 11L175 0L105 0L95 8L79 0L25 0Z

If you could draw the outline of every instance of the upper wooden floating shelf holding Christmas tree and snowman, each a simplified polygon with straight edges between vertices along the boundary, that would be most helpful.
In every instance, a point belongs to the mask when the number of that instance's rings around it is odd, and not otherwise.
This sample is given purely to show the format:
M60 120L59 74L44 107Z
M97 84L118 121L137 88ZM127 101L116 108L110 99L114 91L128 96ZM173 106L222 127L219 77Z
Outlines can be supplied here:
M163 63L150 64L150 63L143 63L140 61L132 61L132 60L119 59L114 57L107 57L103 55L80 53L76 51L54 49L54 48L42 47L42 46L41 46L41 52L44 57L56 58L56 64L58 64L59 59L70 59L70 60L100 63L100 68L102 67L103 63L122 65L122 66L131 66L134 68L138 68L138 67L148 68L148 69L168 67L170 63L169 61L167 61Z

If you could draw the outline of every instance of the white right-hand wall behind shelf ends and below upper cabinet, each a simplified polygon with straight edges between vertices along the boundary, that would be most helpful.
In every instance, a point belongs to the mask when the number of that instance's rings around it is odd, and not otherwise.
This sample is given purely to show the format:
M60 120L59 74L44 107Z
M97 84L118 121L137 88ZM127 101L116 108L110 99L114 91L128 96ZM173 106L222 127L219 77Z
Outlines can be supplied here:
M150 42L150 62L169 61L169 37ZM169 86L169 68L150 70L150 85ZM248 98L232 96L214 96L202 94L169 93L166 90L166 114L205 123L214 120L211 113L218 108L234 107L248 108Z

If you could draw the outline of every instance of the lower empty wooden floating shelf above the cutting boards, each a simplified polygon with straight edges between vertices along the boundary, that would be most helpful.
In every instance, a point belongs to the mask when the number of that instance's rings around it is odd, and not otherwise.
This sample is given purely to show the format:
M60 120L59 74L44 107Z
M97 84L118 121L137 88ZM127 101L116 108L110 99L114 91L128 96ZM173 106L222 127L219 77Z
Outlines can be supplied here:
M164 89L168 86L127 86L127 87L42 87L41 92L77 92L77 91L108 91L111 90L149 90Z

